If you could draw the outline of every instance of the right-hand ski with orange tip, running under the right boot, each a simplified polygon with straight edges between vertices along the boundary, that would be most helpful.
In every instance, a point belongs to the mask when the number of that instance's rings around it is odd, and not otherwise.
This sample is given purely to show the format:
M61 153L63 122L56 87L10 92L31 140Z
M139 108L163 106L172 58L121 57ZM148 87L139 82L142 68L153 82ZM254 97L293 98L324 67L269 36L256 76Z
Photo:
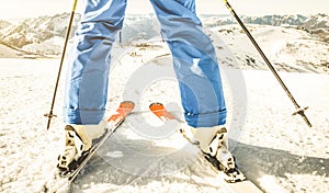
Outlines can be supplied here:
M178 123L180 123L179 120L177 120L171 113L169 113L166 110L162 103L152 103L149 105L149 110L164 123L167 121L177 121ZM198 143L193 140L192 139L193 137L189 136L186 130L180 128L177 132L179 132L189 143L191 143L192 145L196 146L200 149ZM223 181L225 182L226 186L230 190L230 192L235 192L235 193L245 193L245 192L261 193L262 192L251 181L247 180L246 175L237 167L232 171L229 171L230 169L225 170L223 163L220 163L218 160L215 160L215 158L211 157L209 155L204 154L201 149L200 149L200 155L204 159L204 161L208 163L209 167L217 174L222 177Z

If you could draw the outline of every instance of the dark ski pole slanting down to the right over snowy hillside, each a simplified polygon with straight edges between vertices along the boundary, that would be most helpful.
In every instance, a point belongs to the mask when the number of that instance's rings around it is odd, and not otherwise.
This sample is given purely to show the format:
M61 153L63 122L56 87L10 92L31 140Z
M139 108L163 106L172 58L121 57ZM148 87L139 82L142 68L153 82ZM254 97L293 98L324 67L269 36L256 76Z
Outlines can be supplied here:
M290 90L287 89L287 87L284 84L283 80L280 78L279 73L276 72L275 68L273 67L273 65L271 65L270 60L268 59L268 57L265 56L265 54L262 52L262 49L259 47L259 45L257 44L257 42L254 41L254 38L252 37L252 35L250 34L250 32L248 31L248 29L246 27L246 25L243 24L243 22L240 20L240 18L238 16L238 14L235 12L235 10L232 9L232 7L229 4L228 0L223 0L226 8L229 10L229 12L231 13L231 15L237 20L237 22L240 24L240 26L242 27L243 32L247 34L247 36L249 37L249 39L251 41L251 43L253 44L253 46L257 48L257 50L259 52L259 54L261 55L261 57L264 59L264 61L266 63L268 67L270 68L270 70L273 72L273 75L275 76L276 80L279 81L279 83L281 84L281 87L284 89L285 93L287 94L287 96L291 99L291 101L294 103L296 111L293 113L293 115L299 114L304 121L306 122L306 124L311 127L310 122L308 121L307 116L305 115L305 110L307 110L308 107L300 107L298 105L298 103L296 102L296 100L294 99L293 94L290 92Z

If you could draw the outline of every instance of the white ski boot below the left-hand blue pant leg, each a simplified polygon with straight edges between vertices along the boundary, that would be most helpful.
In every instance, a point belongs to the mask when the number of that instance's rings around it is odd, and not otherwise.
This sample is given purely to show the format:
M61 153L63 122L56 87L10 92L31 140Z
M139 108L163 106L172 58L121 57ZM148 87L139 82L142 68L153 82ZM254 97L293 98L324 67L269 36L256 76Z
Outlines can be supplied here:
M65 127L65 150L58 156L59 174L67 175L76 170L88 156L89 150L106 134L106 121L98 125L73 125Z

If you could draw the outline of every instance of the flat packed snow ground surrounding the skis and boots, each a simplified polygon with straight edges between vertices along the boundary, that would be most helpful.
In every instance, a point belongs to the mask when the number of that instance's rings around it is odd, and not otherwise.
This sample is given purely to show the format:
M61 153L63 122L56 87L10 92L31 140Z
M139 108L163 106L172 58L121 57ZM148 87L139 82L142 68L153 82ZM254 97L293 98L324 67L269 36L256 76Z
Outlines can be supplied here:
M107 139L70 192L226 192L182 137L173 130L148 129L161 125L147 112L151 102L167 104L182 120L166 46L116 50L107 113L123 99L135 101L137 113ZM134 52L135 57L128 55ZM0 63L0 192L42 192L64 146L65 73L54 109L58 117L46 130L43 114L50 107L59 59L2 58ZM308 128L302 117L291 116L294 106L271 72L223 68L222 73L230 148L246 175L265 192L328 191L328 75L280 72L300 105L309 105L306 114L314 127ZM228 80L235 77L245 80L238 84L246 83L246 100L232 93L236 82Z

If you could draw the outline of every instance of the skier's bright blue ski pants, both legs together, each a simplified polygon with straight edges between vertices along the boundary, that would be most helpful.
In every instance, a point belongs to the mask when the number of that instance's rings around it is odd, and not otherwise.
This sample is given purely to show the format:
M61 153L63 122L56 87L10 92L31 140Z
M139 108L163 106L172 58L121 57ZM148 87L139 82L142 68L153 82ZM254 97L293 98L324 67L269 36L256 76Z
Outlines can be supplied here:
M173 58L186 123L224 125L226 105L219 67L194 0L150 0ZM77 45L69 56L64 120L98 124L107 100L111 48L122 29L127 0L87 0ZM110 93L111 94L111 93Z

